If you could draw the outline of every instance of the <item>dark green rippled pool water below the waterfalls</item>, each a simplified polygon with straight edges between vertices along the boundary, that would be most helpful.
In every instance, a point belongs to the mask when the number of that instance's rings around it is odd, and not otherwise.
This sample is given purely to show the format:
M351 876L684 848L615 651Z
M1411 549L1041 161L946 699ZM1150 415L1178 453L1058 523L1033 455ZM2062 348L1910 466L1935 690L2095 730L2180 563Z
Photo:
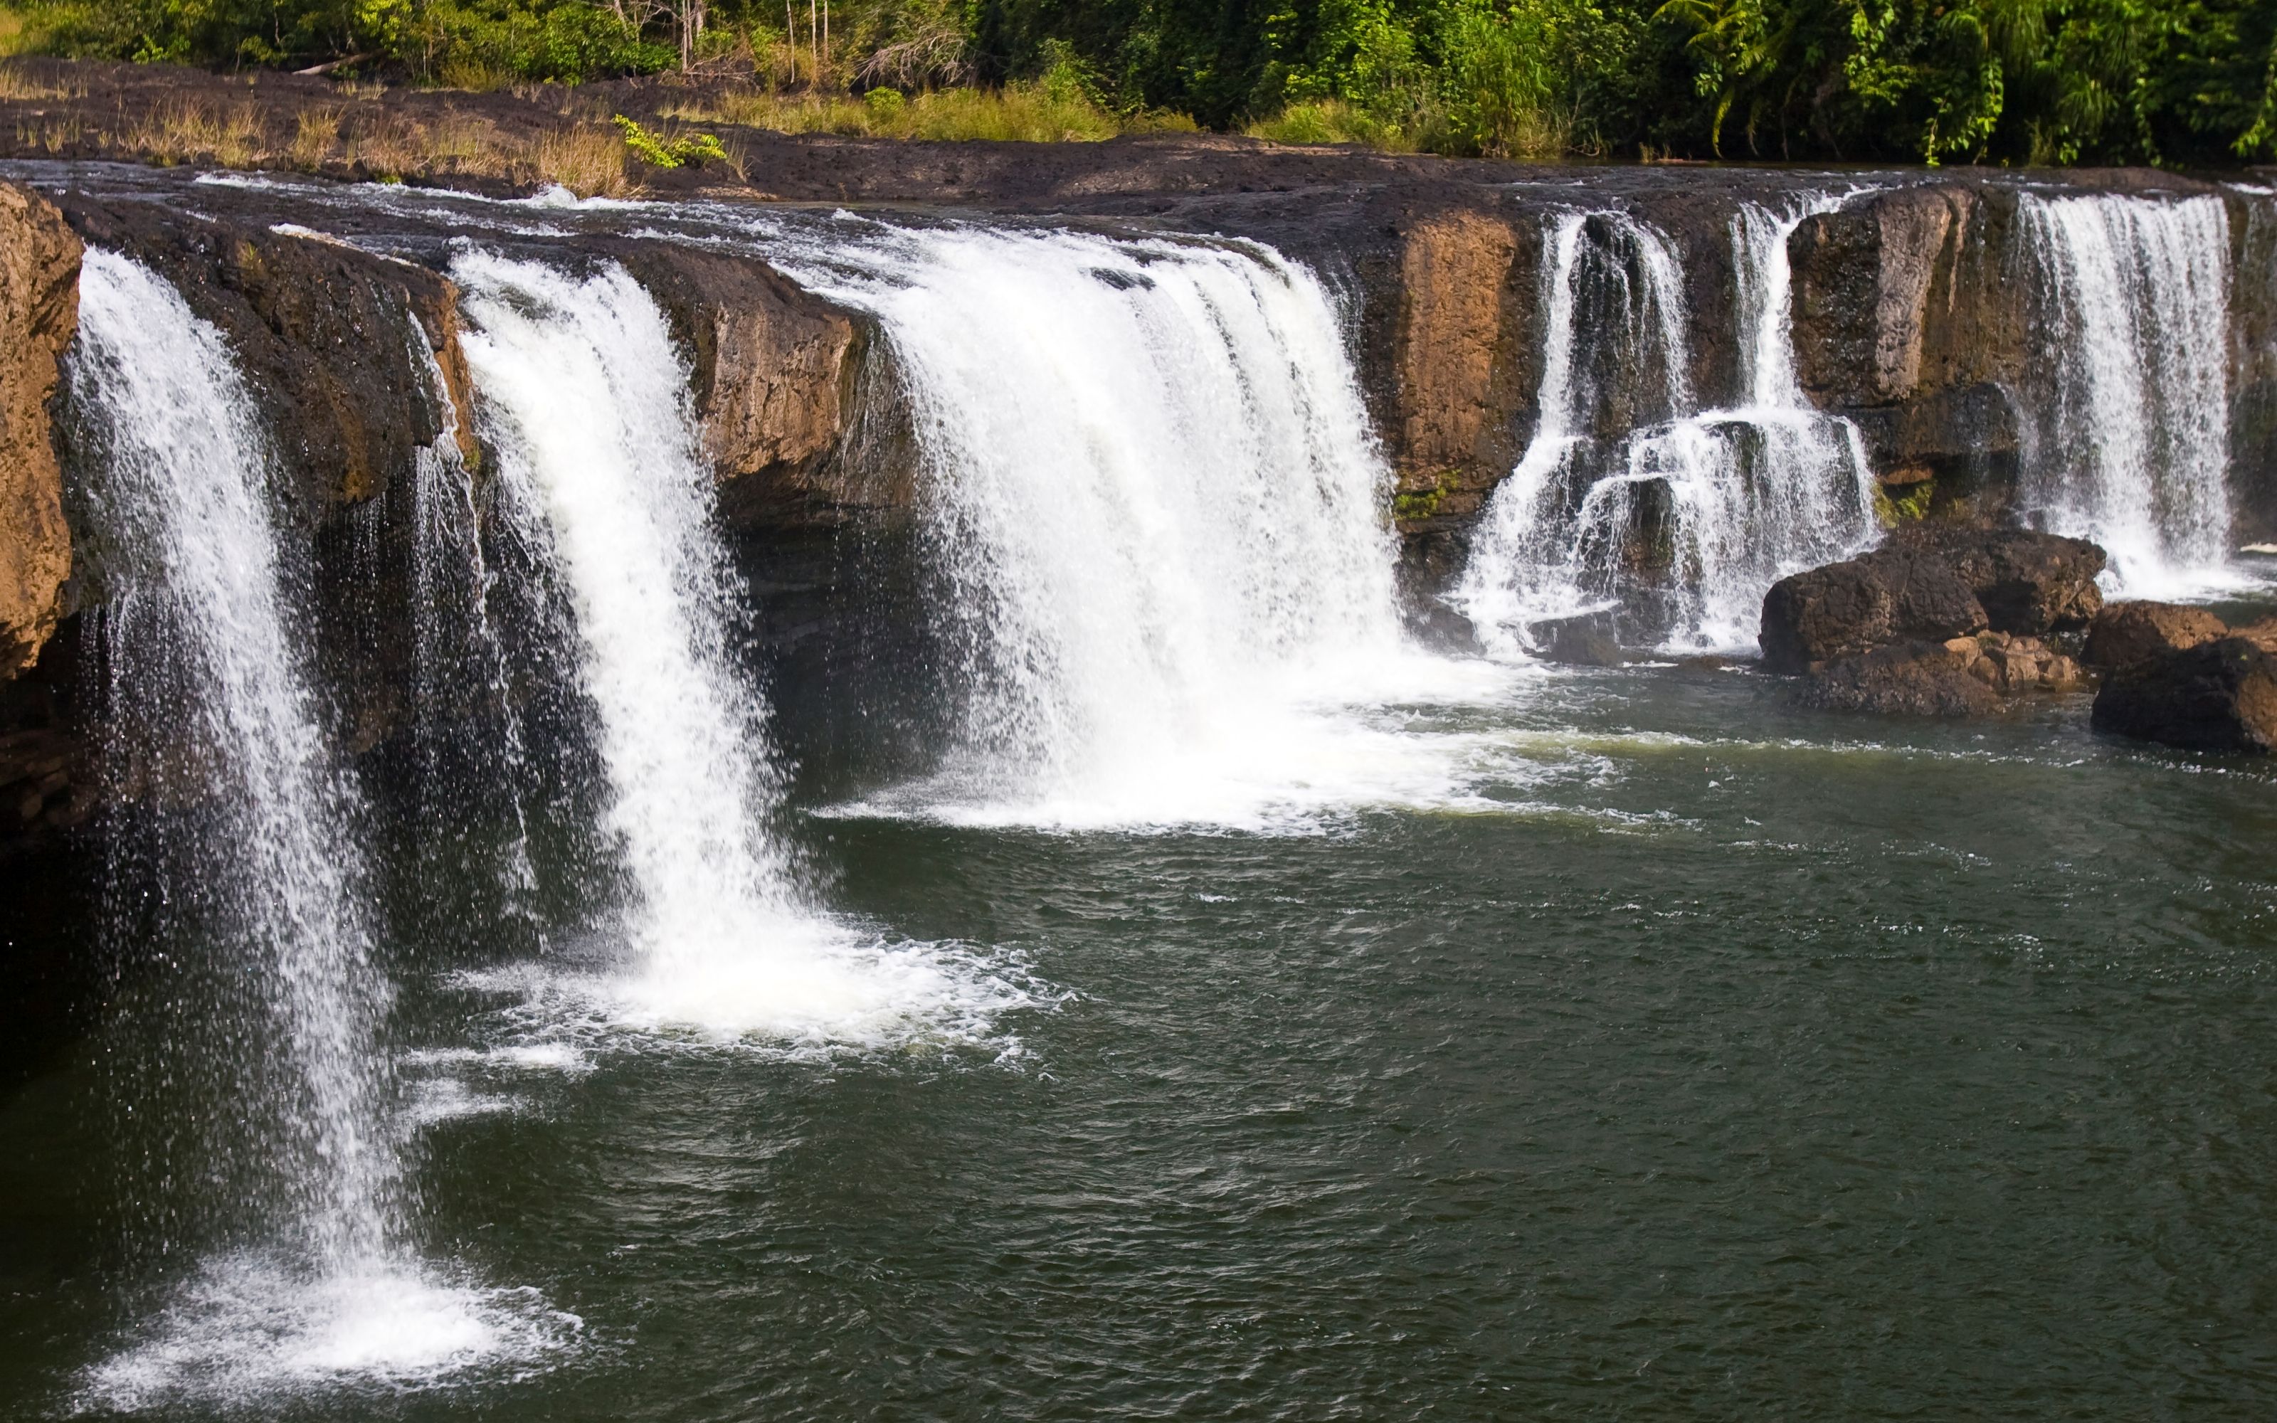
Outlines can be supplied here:
M1523 806L806 822L842 908L1070 997L979 1045L501 1077L517 1111L424 1134L428 1257L576 1343L230 1407L2270 1416L2272 767L2095 740L2083 699L1831 719L1690 667L1466 726ZM0 1107L0 1416L132 1323L93 1052Z

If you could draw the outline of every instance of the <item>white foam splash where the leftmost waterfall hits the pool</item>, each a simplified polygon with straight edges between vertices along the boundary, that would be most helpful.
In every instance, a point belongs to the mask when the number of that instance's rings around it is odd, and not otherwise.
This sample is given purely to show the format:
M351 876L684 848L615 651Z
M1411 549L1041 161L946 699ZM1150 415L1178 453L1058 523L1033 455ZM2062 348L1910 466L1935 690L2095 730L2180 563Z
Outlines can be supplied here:
M150 1323L155 1336L82 1375L80 1412L499 1382L558 1364L585 1330L533 1289L483 1289L398 1261L307 1275L266 1255L207 1261Z

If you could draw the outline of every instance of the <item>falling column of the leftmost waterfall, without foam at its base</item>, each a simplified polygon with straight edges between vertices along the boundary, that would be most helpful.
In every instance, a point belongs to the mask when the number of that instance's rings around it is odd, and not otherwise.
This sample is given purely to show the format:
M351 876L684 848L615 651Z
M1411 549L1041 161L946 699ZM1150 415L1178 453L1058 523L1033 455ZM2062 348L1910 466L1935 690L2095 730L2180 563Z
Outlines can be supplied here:
M219 997L180 1000L171 1056L221 1068L205 1088L223 1095L214 1120L244 1113L244 1132L182 1150L221 1186L203 1209L225 1241L353 1268L398 1229L373 1040L385 990L355 795L298 665L305 615L269 517L253 398L171 285L102 250L82 269L71 396L91 426L109 776L173 831L162 861L178 911L139 927L219 965Z

